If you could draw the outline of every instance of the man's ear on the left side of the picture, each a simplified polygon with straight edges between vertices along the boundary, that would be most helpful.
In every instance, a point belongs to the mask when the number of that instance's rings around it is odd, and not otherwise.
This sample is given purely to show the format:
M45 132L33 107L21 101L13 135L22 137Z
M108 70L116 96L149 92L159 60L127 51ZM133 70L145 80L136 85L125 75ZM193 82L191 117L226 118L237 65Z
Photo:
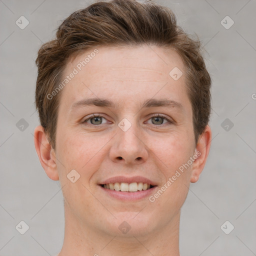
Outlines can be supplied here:
M40 163L50 179L58 180L55 151L51 147L44 128L38 125L34 129L34 146Z

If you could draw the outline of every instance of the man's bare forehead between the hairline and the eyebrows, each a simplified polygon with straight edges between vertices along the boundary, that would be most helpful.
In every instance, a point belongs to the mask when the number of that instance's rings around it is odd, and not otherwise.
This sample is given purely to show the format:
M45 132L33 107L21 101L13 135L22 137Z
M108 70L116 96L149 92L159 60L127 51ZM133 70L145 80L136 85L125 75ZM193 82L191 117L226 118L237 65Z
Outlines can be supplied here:
M154 95L166 98L167 92L179 101L186 94L185 77L181 75L174 80L170 76L173 68L184 73L182 59L170 48L148 45L90 48L67 63L64 76L74 70L76 74L64 87L61 101L71 107L77 100L104 97L117 98L119 105L124 99L143 101Z

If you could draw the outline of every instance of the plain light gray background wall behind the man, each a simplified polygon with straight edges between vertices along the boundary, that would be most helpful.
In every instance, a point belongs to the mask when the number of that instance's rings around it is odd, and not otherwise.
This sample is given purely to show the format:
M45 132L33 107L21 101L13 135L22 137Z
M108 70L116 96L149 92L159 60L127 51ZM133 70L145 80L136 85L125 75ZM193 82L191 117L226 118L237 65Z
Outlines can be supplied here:
M55 255L61 248L62 193L58 181L46 176L33 144L34 60L62 19L91 2L0 0L0 255ZM212 144L181 210L180 253L256 255L256 2L156 2L171 7L179 24L199 36L212 77ZM24 29L15 24L21 15L29 20ZM226 15L234 21L229 29L220 22ZM21 118L28 123L23 131L16 126ZM226 118L228 130L226 123L221 126ZM29 225L23 235L15 229L21 220ZM229 234L220 228L226 220L234 226Z

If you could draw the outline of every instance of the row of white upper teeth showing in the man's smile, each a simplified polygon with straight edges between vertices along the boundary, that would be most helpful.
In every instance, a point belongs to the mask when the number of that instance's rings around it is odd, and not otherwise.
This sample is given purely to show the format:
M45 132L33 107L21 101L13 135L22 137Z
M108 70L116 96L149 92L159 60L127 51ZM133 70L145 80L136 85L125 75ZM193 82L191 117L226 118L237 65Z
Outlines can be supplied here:
M115 191L122 191L122 192L136 192L141 190L146 190L150 188L150 184L143 183L143 182L115 182L115 183L109 183L104 184L104 188L115 190Z

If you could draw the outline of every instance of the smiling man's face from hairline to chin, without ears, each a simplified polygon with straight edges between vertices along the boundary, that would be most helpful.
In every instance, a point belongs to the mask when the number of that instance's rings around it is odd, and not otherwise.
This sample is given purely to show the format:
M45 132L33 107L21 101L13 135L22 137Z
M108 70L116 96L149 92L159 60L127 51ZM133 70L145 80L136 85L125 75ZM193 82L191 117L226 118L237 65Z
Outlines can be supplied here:
M93 49L65 68L78 71L62 89L56 127L66 217L111 235L123 221L126 235L160 231L179 214L192 164L172 177L195 154L184 65L156 46L97 50L80 70ZM169 74L174 67L183 72L178 79ZM67 178L73 169L75 182Z

